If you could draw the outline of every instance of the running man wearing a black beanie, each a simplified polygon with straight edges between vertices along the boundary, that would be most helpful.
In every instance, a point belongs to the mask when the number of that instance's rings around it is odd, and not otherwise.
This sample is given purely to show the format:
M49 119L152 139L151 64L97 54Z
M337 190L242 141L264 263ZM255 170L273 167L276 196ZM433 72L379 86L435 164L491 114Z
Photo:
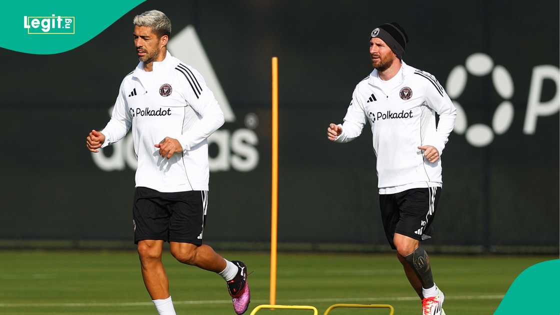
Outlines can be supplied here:
M327 136L352 141L370 123L385 235L422 299L422 314L445 315L445 296L433 282L421 241L432 235L443 186L440 156L456 109L434 76L403 61L407 43L407 33L396 22L371 31L374 71L356 85L344 123L330 124Z

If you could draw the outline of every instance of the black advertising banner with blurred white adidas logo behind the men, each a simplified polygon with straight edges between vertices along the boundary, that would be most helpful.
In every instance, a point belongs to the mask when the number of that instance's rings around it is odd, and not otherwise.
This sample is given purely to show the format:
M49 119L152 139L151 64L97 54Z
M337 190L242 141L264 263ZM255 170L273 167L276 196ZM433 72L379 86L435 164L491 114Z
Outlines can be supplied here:
M435 245L558 247L558 2L147 1L64 53L0 49L0 239L130 240L130 135L91 154L137 64L132 18L157 9L168 45L204 76L225 114L211 136L210 242L267 242L270 57L279 57L279 241L385 245L371 132L331 143L368 38L398 21L408 64L458 107L442 155ZM76 22L77 23L77 22ZM78 24L79 25L79 24Z

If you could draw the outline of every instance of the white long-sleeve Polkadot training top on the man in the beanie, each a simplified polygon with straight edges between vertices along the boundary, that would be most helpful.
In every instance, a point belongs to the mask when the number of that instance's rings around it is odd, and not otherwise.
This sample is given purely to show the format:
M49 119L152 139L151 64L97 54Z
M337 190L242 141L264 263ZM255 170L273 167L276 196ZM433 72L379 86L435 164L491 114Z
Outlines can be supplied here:
M352 141L369 122L380 194L441 187L441 158L430 163L418 147L434 146L441 156L455 117L456 108L436 78L403 61L390 80L382 81L374 70L356 85L335 141Z

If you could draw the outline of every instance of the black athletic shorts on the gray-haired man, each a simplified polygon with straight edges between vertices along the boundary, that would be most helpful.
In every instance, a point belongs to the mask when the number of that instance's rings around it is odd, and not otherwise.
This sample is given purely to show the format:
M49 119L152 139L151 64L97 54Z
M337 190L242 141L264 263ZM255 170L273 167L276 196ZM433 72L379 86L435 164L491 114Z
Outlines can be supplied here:
M202 244L207 191L158 192L136 187L132 206L134 244L144 239Z

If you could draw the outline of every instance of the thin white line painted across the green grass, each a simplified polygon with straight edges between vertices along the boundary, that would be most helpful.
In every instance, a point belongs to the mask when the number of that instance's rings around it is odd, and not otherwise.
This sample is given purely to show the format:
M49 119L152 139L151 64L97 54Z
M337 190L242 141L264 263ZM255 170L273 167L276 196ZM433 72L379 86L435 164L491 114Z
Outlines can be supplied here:
M451 300L498 300L503 295L455 295L445 296ZM384 297L384 298L320 298L320 299L279 299L279 304L312 302L380 302L380 301L416 301L418 297ZM267 303L269 300L251 300L253 303ZM175 305L185 304L229 304L231 300L194 300L173 301ZM126 303L0 303L0 307L127 307L153 305L152 302Z

